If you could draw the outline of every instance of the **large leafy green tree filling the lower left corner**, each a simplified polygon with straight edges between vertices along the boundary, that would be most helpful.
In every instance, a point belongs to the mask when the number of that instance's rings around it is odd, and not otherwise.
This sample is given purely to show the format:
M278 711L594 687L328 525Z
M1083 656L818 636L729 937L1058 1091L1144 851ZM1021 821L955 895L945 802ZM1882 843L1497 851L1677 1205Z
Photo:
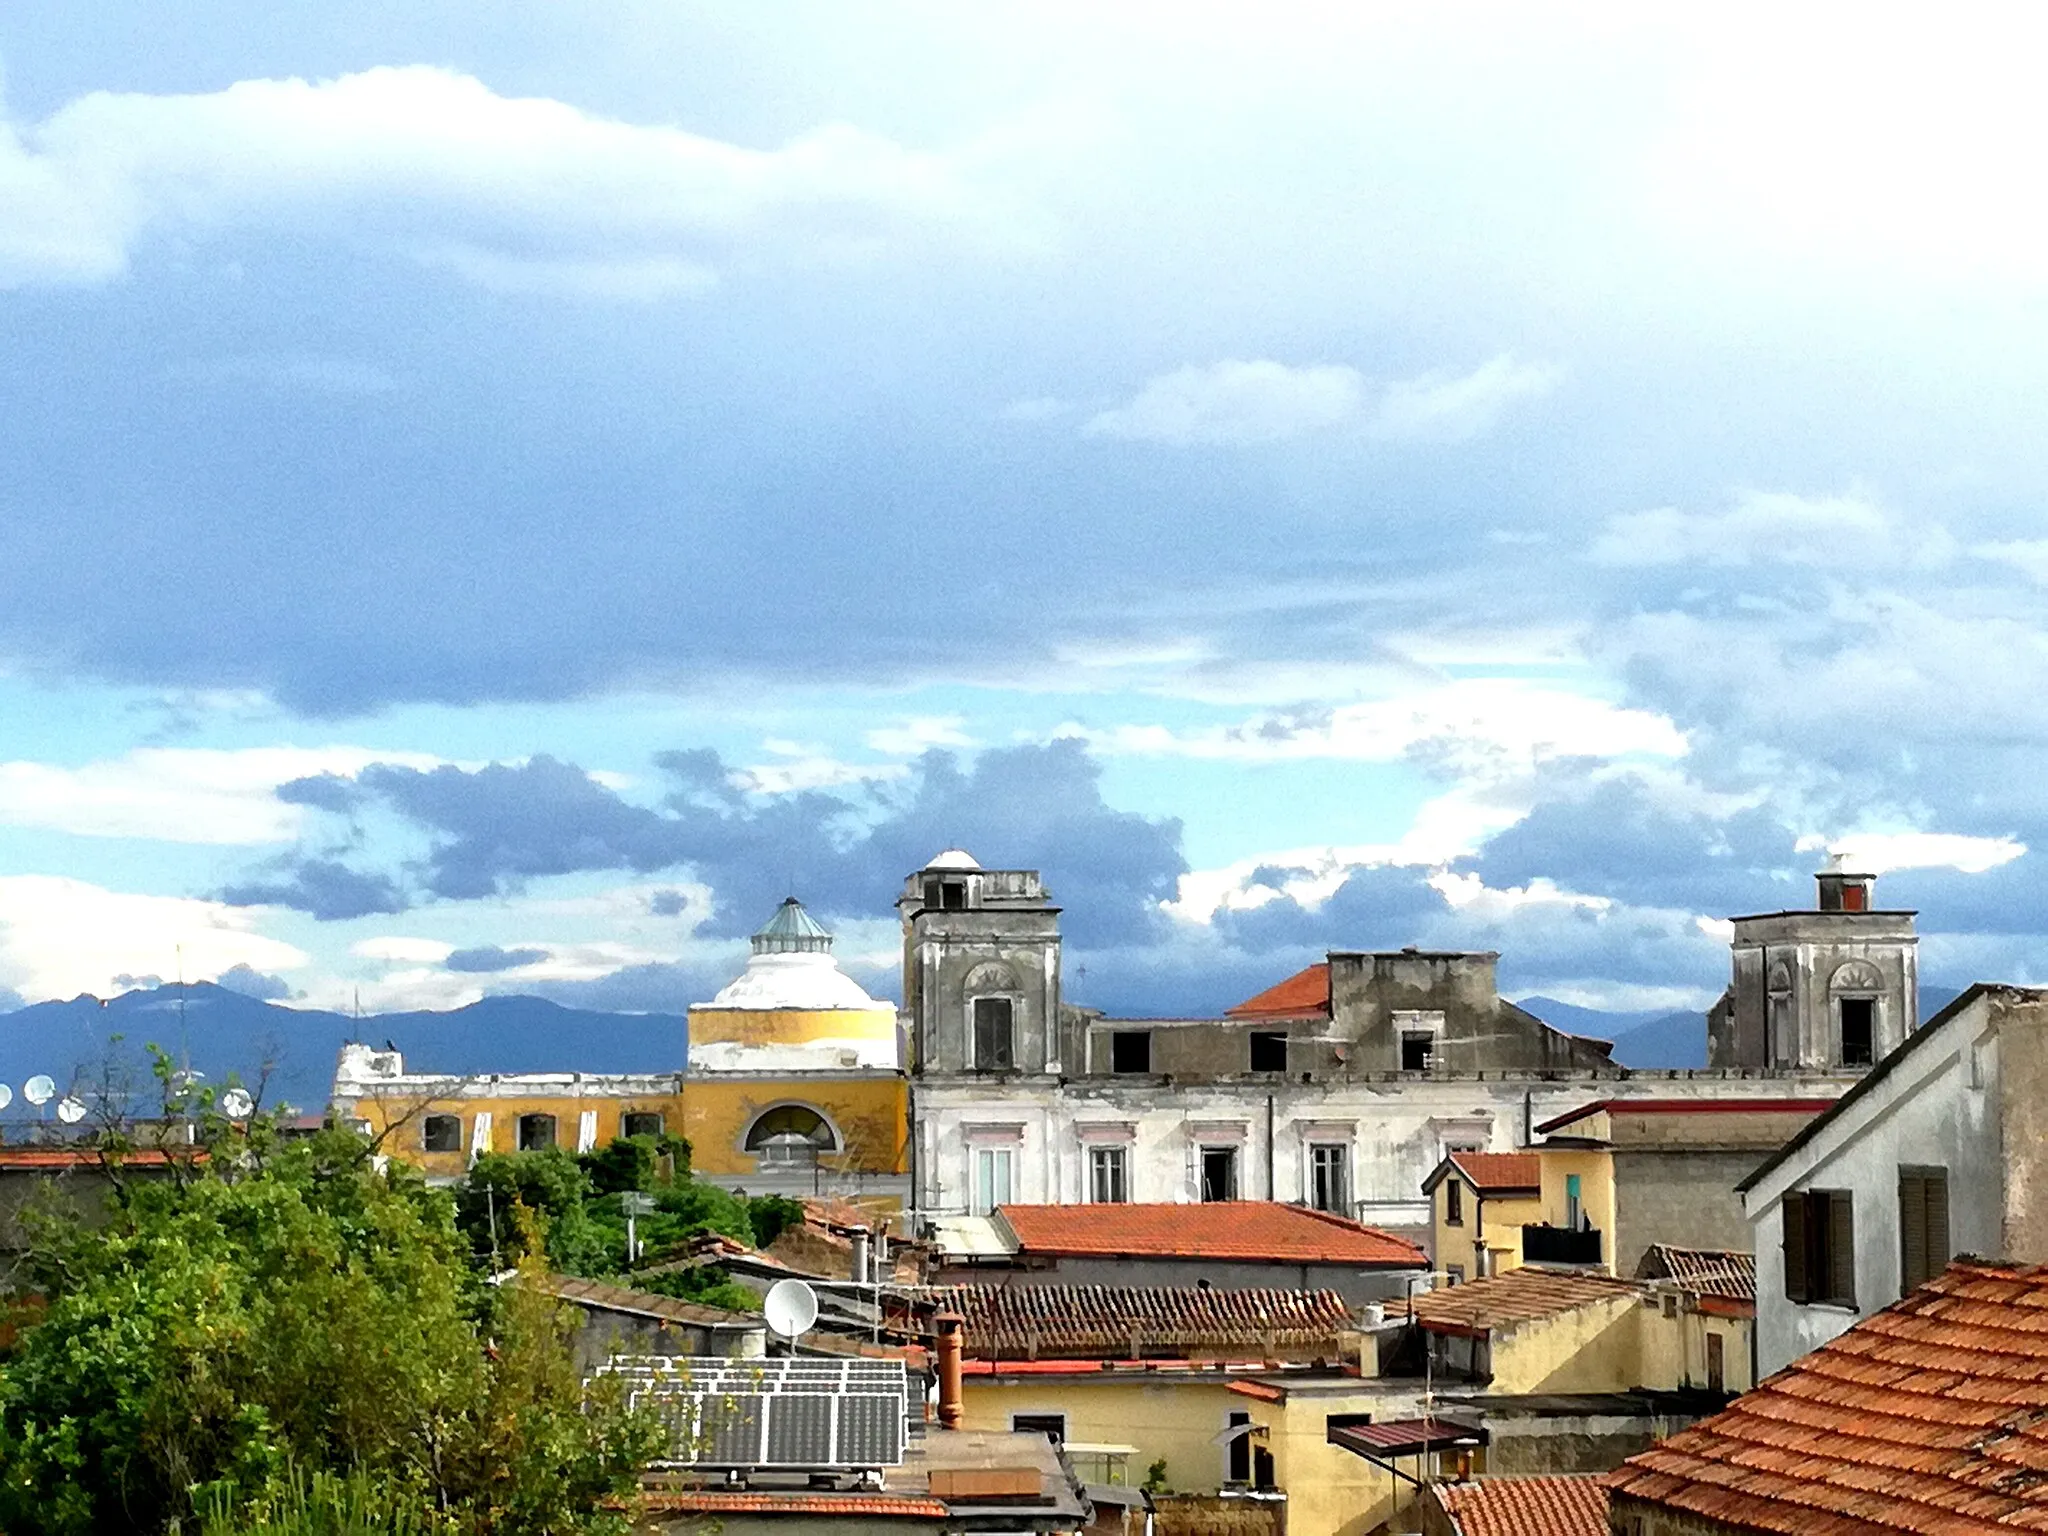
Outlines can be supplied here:
M0 1528L164 1530L326 1473L438 1530L618 1524L602 1501L659 1427L584 1391L565 1309L481 1282L444 1192L344 1130L182 1110L199 1141L152 1178L109 1139L106 1221L35 1225L47 1307L0 1358Z

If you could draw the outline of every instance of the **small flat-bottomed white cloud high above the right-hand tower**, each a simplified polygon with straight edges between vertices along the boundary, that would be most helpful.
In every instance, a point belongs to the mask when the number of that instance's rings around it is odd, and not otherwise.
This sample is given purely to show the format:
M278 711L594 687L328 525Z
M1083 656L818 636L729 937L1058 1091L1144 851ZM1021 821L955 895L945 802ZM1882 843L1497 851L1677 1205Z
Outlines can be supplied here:
M1909 524L1862 496L1747 492L1726 512L1673 506L1608 518L1599 565L1946 565L1956 541L1939 522Z

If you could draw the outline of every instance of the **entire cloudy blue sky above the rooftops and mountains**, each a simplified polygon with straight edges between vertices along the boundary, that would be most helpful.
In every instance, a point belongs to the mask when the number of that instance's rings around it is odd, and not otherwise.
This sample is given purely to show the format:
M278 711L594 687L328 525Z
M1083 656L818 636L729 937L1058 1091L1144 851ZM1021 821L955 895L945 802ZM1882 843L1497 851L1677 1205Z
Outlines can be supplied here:
M0 1006L2044 981L2042 27L14 0Z

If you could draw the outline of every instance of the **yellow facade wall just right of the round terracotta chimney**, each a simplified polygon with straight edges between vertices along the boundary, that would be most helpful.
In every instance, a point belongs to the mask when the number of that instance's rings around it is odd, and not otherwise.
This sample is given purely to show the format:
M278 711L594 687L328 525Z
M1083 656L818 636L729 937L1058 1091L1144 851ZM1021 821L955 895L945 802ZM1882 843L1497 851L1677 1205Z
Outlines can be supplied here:
M1231 1413L1255 1407L1229 1382L1200 1378L1135 1380L1110 1372L993 1380L969 1376L963 1389L969 1430L1008 1430L1018 1413L1063 1413L1067 1440L1096 1446L1137 1446L1130 1483L1165 1460L1167 1485L1180 1493L1214 1493L1229 1454L1214 1438Z

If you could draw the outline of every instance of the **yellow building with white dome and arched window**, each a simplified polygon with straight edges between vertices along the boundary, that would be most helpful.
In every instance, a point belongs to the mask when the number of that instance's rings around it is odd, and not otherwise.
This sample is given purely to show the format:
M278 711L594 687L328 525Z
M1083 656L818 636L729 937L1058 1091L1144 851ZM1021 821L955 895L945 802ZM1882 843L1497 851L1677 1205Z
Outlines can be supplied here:
M838 967L831 934L795 897L752 950L739 977L690 1008L680 1071L449 1077L348 1044L334 1108L430 1178L461 1178L487 1151L672 1133L690 1141L694 1171L727 1188L901 1206L909 1079L895 1008ZM573 1051L565 1040L563 1055Z

